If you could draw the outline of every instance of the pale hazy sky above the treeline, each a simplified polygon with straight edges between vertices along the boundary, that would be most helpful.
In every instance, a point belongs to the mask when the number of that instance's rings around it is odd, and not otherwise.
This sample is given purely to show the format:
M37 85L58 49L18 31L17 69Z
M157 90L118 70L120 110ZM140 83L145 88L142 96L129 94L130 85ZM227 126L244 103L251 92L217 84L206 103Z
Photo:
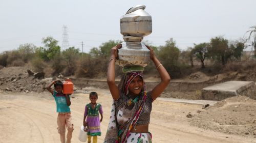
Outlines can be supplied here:
M0 0L0 52L25 43L41 46L47 36L61 46L63 25L68 26L70 46L81 48L83 41L88 52L108 40L122 40L120 17L140 4L153 20L153 32L144 40L156 46L169 38L180 49L215 36L237 40L256 25L255 0Z

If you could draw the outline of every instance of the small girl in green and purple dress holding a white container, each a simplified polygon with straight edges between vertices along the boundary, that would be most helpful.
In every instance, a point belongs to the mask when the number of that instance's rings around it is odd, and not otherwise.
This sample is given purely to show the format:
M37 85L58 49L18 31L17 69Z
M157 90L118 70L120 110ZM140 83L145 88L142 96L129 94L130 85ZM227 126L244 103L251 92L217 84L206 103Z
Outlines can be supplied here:
M90 93L91 103L88 103L84 110L83 126L88 127L86 129L88 135L88 143L91 143L91 137L93 136L93 143L97 142L97 136L101 135L100 122L103 119L102 106L96 103L98 94L96 92ZM99 120L100 113L100 120Z

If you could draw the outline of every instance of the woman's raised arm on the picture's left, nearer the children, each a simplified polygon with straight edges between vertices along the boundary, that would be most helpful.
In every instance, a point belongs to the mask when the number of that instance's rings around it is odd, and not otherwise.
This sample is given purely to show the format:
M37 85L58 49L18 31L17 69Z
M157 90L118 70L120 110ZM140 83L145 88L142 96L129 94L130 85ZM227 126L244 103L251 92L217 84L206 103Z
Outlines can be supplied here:
M109 85L110 93L113 99L117 100L119 98L119 90L117 85L115 84L115 60L117 58L117 50L121 48L122 45L118 44L111 49L111 57L107 74L107 82Z

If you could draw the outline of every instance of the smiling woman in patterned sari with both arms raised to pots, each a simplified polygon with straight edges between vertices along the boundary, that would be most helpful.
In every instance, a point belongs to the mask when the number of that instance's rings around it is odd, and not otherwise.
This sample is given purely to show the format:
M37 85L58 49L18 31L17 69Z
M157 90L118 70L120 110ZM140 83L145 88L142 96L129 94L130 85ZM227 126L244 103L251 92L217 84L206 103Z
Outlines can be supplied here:
M148 132L152 102L167 87L170 76L163 65L156 58L151 47L151 60L154 62L161 81L150 91L146 91L142 72L138 68L130 67L122 76L118 87L115 84L115 60L118 44L111 49L108 68L108 85L114 99L112 104L110 123L104 142L152 142L152 134ZM143 71L143 70L142 70Z

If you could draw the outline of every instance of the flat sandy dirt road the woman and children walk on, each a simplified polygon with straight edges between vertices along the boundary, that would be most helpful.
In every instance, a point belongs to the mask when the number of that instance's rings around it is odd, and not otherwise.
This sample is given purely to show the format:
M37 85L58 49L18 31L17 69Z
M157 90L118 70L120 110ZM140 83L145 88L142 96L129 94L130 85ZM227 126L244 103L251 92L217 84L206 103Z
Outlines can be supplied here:
M102 135L98 142L103 142L109 122L112 98L107 90L95 90L99 94L97 102L103 107ZM72 116L75 130L72 142L78 140L82 125L84 105L89 103L88 94L72 95ZM197 142L197 143L242 143L256 142L253 138L227 135L189 126L186 115L196 113L201 105L176 103L156 100L153 103L150 131L153 142ZM53 97L48 93L3 94L0 93L0 142L60 142L57 133L57 113Z

